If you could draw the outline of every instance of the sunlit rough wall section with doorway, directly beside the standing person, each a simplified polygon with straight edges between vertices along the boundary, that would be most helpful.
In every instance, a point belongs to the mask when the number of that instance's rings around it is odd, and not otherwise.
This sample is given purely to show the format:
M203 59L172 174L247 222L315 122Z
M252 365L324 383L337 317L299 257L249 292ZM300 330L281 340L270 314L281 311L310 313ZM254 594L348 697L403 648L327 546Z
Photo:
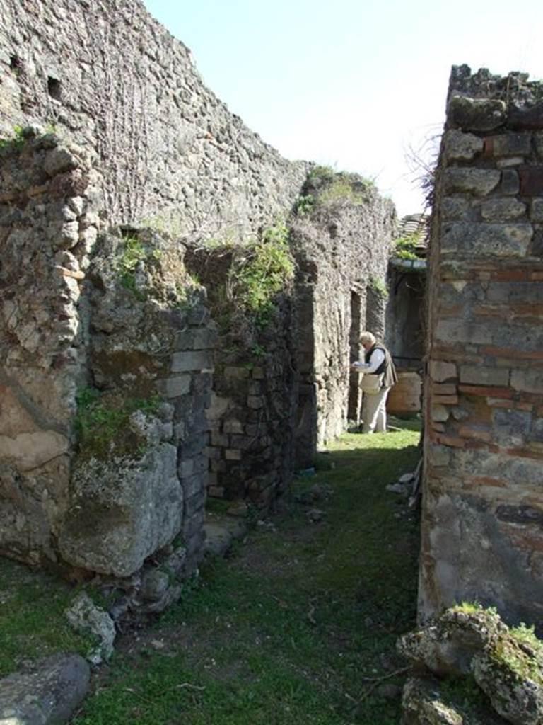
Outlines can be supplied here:
M367 182L351 179L354 194L329 196L327 184L308 191L316 207L292 223L298 262L296 310L300 372L296 461L311 465L313 452L358 422L361 393L349 363L360 360L364 329L384 333L387 265L395 210ZM332 185L337 184L337 179ZM334 188L334 186L332 186ZM324 202L319 202L324 194Z

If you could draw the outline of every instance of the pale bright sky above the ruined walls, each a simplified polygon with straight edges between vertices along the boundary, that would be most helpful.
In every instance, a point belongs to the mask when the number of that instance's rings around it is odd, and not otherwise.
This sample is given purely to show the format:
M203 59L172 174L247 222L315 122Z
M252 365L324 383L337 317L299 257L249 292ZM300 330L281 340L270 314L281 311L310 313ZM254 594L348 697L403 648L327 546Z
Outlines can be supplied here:
M421 211L405 154L441 132L451 65L543 78L542 0L144 1L264 141L374 179L400 215Z

